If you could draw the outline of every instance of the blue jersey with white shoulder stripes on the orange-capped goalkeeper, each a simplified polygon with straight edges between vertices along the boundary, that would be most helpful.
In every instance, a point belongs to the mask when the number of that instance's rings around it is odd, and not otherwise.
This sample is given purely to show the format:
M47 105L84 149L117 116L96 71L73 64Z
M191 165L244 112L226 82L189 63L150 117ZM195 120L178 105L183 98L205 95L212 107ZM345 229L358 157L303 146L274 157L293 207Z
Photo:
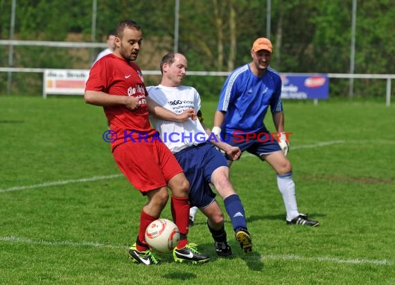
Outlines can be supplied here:
M283 111L280 95L281 77L274 69L267 68L263 77L257 77L249 64L236 68L227 77L218 102L217 110L226 112L222 131L265 130L263 119L268 107L272 113Z

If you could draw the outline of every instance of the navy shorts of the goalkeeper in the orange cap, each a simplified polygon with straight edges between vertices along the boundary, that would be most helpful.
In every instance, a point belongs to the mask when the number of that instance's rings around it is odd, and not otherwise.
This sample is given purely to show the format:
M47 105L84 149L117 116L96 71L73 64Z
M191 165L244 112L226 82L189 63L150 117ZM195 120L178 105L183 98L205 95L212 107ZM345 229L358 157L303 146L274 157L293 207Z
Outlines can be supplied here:
M229 145L239 147L242 152L246 150L250 154L258 156L258 158L261 158L262 154L272 154L275 151L281 151L276 138L267 130L249 134L235 131L232 134L225 134L222 140ZM228 156L225 155L225 157L227 160L231 160Z

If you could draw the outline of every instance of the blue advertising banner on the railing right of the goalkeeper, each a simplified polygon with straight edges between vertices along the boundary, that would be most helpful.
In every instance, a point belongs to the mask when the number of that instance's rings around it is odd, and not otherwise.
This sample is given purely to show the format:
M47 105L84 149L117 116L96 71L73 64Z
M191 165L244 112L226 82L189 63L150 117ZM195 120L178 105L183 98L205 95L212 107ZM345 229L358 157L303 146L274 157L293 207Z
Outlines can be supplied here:
M281 73L281 81L281 99L328 99L329 77L326 74Z

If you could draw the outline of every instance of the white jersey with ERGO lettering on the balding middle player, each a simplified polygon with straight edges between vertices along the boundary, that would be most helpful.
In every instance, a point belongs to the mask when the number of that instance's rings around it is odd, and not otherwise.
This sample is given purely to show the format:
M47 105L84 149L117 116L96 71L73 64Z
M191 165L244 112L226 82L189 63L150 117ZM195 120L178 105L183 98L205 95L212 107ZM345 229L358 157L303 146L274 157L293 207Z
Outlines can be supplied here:
M159 84L158 86L148 86L147 91L150 94L150 99L174 113L179 114L191 108L195 109L196 113L200 110L200 95L193 87L166 87ZM186 147L204 143L209 139L199 120L188 119L185 122L170 122L150 116L150 121L152 127L159 131L161 140L173 154L186 149Z

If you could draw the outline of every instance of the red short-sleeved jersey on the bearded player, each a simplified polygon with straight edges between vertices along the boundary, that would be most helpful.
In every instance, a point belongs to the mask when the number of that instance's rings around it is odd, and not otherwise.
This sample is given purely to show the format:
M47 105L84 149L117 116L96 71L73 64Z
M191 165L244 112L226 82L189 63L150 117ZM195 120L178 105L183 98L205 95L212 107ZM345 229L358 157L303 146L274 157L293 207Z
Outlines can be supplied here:
M117 138L111 144L112 150L121 143L138 141L156 133L148 120L143 74L139 66L121 57L109 54L91 68L85 90L103 91L109 95L134 96L139 98L139 108L135 111L123 105L103 107L109 120L109 128L116 131Z

